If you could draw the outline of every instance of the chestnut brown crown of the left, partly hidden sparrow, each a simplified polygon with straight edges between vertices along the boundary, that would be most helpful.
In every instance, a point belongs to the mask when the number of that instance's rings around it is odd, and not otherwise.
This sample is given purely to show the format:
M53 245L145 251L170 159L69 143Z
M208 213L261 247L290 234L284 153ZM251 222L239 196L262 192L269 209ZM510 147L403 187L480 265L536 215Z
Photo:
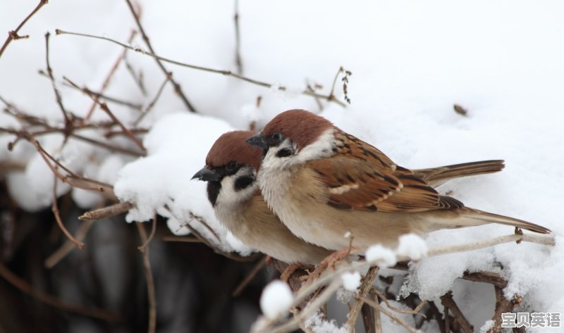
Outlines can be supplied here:
M221 134L206 157L206 166L216 168L235 161L238 165L250 165L259 170L262 149L247 144L245 140L255 132L232 131Z

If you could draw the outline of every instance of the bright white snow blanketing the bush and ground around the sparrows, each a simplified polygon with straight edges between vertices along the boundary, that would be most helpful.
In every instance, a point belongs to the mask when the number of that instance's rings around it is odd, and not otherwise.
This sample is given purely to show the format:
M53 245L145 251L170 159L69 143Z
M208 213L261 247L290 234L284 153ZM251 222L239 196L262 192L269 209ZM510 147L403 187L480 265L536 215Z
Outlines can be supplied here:
M231 4L172 0L140 4L142 23L159 55L235 70ZM0 11L0 32L13 30L36 5L35 0L8 1ZM481 308L470 305L479 302L472 294L486 291L456 281L465 271L490 270L508 279L505 294L522 296L525 310L564 312L559 270L564 267L560 213L564 203L560 189L564 184L564 46L558 42L564 39L563 12L564 4L556 0L240 1L244 75L274 84L273 89L167 64L200 115L186 112L167 85L140 124L149 128L143 139L147 157L134 159L92 149L74 139L61 150L60 135L39 139L74 172L114 184L122 201L135 203L129 221L150 220L159 213L168 218L173 232L186 234L183 225L190 222L214 239L194 219L198 215L219 234L216 243L222 249L243 252L243 246L215 219L205 184L190 178L202 168L207 150L220 134L247 129L250 122L257 122L260 129L281 111L306 108L374 144L406 168L503 158L503 172L453 180L438 190L467 206L549 227L556 246L503 244L422 258L411 265L403 291L436 299L455 288L455 297L460 296L458 303L472 318L472 325L482 327ZM126 42L133 26L120 1L49 2L20 32L30 34L30 39L12 42L0 58L1 96L23 111L61 125L50 83L37 75L38 69L45 68L44 33L61 28ZM132 44L145 48L138 37ZM58 80L66 75L93 89L100 87L121 51L108 42L51 35L54 75ZM134 52L128 58L143 71L149 94L139 92L123 66L107 93L146 106L164 77L152 59ZM321 93L328 94L341 65L353 72L348 84L352 104L347 108L322 102L321 111L317 101L297 94L306 80L322 84ZM340 84L338 80L338 99L343 96ZM58 85L66 107L85 115L92 101ZM289 91L276 89L280 86ZM258 96L262 97L259 106ZM467 115L455 113L454 103L466 108ZM129 108L110 106L125 124L138 116ZM94 119L108 118L96 111ZM19 125L1 114L0 127ZM25 170L6 174L11 196L28 211L49 206L51 170L30 144L19 142L7 151L11 141L12 135L0 133L0 159L25 163ZM123 137L113 142L130 145ZM71 190L66 184L58 184L57 189L59 195ZM72 191L81 207L99 203L97 195ZM432 249L512 232L509 227L487 225L434 232L425 242ZM407 238L397 254L420 258L424 244ZM367 251L367 258L389 266L395 263L396 252L376 246Z

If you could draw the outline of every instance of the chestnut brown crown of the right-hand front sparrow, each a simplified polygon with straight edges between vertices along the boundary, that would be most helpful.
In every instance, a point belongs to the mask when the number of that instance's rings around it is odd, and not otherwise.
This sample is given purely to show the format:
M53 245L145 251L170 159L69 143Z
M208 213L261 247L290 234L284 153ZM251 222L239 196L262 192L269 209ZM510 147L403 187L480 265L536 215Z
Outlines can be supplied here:
M272 118L260 132L263 137L280 133L290 138L298 150L303 149L329 128L335 128L332 122L306 110L288 110Z

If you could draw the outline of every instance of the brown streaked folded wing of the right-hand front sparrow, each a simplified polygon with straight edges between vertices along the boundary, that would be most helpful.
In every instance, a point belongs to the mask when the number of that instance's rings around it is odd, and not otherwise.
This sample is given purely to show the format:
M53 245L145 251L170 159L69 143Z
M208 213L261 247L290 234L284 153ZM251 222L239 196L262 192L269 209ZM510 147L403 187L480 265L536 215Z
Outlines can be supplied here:
M460 208L413 172L348 134L337 134L336 155L307 163L327 186L328 203L359 211L422 212Z

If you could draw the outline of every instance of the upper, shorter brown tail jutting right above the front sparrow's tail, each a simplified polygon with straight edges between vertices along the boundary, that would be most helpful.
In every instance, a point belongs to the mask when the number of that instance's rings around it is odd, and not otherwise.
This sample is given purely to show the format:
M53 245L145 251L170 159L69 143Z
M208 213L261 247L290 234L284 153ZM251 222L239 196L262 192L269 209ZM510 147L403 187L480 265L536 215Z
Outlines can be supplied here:
M438 187L448 180L459 177L484 175L501 171L505 168L503 160L478 161L445 165L439 168L413 170L416 177L429 182L431 187Z

